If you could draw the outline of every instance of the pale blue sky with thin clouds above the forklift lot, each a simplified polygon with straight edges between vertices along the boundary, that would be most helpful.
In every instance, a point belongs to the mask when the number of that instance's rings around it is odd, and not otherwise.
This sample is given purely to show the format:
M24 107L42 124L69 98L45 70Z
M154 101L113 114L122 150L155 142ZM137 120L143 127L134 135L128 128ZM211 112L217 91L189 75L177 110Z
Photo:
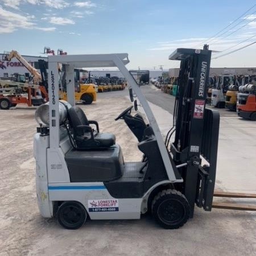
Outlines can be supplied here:
M209 43L223 51L212 53L212 67L256 67L256 43L221 56L253 42L255 0L0 0L0 53L127 52L127 68L159 70L179 67L168 60L176 48Z

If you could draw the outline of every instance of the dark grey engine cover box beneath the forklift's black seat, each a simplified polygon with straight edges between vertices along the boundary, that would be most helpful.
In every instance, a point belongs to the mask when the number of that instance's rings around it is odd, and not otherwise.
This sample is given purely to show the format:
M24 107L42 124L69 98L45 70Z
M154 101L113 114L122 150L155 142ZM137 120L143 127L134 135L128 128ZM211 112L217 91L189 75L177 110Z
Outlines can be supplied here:
M122 150L118 144L105 150L71 150L65 154L71 182L111 181L123 175Z

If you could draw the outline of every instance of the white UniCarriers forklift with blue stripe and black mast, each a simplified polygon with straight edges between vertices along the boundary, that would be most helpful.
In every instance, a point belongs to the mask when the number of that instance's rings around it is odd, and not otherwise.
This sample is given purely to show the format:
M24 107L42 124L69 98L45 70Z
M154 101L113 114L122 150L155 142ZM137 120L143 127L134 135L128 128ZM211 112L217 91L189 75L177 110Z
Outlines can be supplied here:
M165 142L146 98L125 67L127 53L48 56L49 102L36 111L40 127L34 137L42 216L56 216L64 228L77 229L86 218L139 219L150 212L163 228L176 229L193 217L195 204L211 210L219 115L205 109L210 55L208 49L183 48L170 55L171 60L181 60L181 70L174 127ZM67 71L68 102L59 101L58 63ZM100 133L98 123L88 121L75 105L73 69L89 67L119 68L131 86L131 101L134 94L138 97L149 123L131 114L133 106L115 120L123 119L137 137L144 154L141 162L124 162L114 134Z

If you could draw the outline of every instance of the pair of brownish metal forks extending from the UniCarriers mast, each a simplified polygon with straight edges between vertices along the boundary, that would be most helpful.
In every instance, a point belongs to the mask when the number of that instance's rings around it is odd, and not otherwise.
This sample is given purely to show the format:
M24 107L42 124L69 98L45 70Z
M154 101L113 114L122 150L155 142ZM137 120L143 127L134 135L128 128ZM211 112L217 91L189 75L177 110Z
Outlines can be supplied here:
M215 191L213 196L215 197L228 197L228 198L254 198L256 199L256 194L253 193L237 193L237 192L222 192ZM228 209L228 210L253 210L256 211L256 204L237 204L237 203L222 203L213 202L212 208L218 209Z

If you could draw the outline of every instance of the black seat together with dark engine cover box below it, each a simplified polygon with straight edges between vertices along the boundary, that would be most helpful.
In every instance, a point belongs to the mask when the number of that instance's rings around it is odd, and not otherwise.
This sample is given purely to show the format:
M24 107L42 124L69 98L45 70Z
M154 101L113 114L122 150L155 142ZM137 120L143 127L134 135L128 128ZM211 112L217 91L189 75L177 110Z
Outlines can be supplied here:
M88 120L78 106L68 109L69 129L76 147L65 154L71 182L119 179L123 175L123 154L111 133L100 133L97 121ZM95 125L96 130L90 125Z

